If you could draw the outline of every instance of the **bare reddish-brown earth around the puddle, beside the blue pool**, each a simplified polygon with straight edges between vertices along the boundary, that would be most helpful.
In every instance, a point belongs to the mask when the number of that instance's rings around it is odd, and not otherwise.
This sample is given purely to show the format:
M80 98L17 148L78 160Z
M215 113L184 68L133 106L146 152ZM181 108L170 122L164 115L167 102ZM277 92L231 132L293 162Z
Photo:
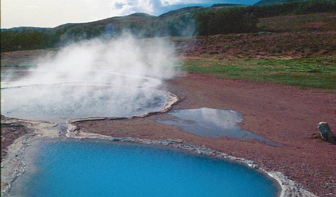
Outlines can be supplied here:
M177 126L154 122L167 114L130 120L87 121L80 131L109 136L148 139L182 139L254 161L266 170L284 172L318 196L336 196L336 145L312 138L318 123L328 122L336 131L336 95L298 87L218 79L200 74L166 81L181 99L173 109L220 108L243 114L241 127L282 146L259 141L208 138L181 131Z

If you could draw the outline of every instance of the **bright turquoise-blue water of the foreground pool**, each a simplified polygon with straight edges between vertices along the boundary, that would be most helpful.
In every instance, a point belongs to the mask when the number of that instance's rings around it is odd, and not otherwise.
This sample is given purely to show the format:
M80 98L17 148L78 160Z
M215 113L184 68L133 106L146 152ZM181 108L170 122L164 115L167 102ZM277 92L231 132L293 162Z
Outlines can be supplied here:
M36 148L37 147L37 148ZM161 146L104 140L40 142L13 184L25 197L274 197L265 174ZM25 156L27 157L27 156Z

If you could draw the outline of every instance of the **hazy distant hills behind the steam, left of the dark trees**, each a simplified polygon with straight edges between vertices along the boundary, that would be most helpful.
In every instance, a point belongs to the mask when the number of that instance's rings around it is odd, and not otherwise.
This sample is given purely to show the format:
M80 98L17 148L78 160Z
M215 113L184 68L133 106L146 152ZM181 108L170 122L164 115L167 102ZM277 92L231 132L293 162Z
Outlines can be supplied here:
M102 34L118 36L128 31L137 37L186 36L195 33L193 15L209 7L181 8L159 17L146 13L111 17L88 23L68 23L55 28L20 27L1 30L1 52L44 49Z

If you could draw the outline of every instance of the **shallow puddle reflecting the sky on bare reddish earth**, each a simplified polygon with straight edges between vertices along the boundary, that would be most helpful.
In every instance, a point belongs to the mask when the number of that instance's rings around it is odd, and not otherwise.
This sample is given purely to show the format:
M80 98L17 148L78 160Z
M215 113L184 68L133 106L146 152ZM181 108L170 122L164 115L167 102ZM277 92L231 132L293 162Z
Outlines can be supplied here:
M243 116L233 110L210 108L181 109L171 111L168 114L174 116L174 118L157 120L156 122L166 125L177 125L183 131L200 136L212 138L225 136L241 140L257 139L272 146L280 145L263 136L242 130L237 123L243 120Z

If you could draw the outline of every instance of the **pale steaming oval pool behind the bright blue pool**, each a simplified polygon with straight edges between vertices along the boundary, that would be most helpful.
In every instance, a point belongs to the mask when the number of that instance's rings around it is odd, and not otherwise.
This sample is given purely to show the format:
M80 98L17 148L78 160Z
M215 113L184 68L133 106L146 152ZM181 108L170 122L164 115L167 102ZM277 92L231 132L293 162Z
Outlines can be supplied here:
M167 96L157 90L123 86L56 84L2 88L1 100L1 114L7 117L65 123L76 118L158 111Z

